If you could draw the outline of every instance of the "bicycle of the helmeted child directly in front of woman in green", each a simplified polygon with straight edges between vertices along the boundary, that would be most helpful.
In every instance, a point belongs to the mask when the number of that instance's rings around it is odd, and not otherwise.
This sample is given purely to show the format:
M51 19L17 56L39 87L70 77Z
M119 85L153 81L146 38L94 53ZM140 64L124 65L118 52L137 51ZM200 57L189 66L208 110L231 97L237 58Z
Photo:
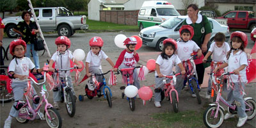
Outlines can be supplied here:
M191 57L188 60L182 61L182 63L186 70L185 81L188 81L189 87L190 87L192 93L196 94L196 99L197 99L198 104L201 104L202 101L201 101L201 98L199 95L200 86L197 81L196 67L195 67L195 63L194 63L194 59L196 58L196 56L197 55L191 54ZM185 65L185 63L187 65Z

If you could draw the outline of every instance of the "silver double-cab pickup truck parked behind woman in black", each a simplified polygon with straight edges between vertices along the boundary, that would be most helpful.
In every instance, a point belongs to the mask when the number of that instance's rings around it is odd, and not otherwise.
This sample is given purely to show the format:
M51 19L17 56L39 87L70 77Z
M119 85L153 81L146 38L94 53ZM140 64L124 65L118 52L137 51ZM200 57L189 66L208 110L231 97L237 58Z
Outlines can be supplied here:
M72 36L76 30L88 29L85 15L74 16L64 7L34 8L34 10L42 31L58 31L59 36ZM33 17L31 20L34 20ZM19 21L22 21L21 16L3 19L4 31L10 38L17 36L13 28Z

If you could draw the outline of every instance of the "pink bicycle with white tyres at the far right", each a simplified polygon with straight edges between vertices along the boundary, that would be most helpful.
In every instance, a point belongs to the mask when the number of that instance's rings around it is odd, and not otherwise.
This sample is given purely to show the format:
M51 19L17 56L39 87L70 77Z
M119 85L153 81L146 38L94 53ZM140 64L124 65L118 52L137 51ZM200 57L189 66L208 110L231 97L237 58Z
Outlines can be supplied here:
M211 74L214 75L214 73ZM223 76L227 76L230 74L234 74L234 72L226 72L221 74L220 84L223 84ZM215 84L216 81L215 79L213 80ZM217 86L219 87L220 84L217 84ZM209 104L209 107L204 112L204 124L207 127L220 127L221 124L223 124L225 109L220 106L220 101L223 102L225 106L228 106L228 113L236 113L238 104L230 104L223 97L221 97L221 88L219 87L216 102L214 104ZM252 97L246 97L244 98L244 103L246 107L246 115L248 115L247 120L252 120L256 115L256 102L252 99Z

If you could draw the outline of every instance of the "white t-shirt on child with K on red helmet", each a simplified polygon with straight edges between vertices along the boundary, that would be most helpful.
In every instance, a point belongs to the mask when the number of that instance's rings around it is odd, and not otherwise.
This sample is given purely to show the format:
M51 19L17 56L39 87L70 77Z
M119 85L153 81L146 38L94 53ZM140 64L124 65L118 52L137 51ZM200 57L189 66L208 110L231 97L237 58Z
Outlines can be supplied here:
M68 69L70 68L70 59L73 58L72 52L67 50L64 54L56 51L53 55L51 60L53 60L55 63L56 69ZM67 71L67 76L70 76L70 70ZM65 72L60 71L60 77L65 77Z

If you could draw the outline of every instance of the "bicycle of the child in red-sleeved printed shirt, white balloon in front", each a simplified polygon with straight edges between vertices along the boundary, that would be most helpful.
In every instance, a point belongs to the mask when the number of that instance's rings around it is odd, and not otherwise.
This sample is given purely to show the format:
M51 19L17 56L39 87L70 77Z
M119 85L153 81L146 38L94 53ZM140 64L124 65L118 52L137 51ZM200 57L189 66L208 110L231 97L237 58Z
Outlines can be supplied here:
M137 66L137 67L118 69L118 71L121 72L121 74L123 76L123 79L124 79L124 77L126 77L125 79L126 79L127 86L131 85L130 84L130 76L132 76L132 74L134 73L134 70L136 68L141 68L141 67L142 67L142 65L141 66ZM120 87L120 90L124 90L124 89L125 89L125 86L121 86ZM124 96L125 96L125 93L122 92L122 99L124 99ZM127 97L127 100L129 102L129 107L130 107L131 111L135 110L135 98L136 97L132 97L132 98Z

